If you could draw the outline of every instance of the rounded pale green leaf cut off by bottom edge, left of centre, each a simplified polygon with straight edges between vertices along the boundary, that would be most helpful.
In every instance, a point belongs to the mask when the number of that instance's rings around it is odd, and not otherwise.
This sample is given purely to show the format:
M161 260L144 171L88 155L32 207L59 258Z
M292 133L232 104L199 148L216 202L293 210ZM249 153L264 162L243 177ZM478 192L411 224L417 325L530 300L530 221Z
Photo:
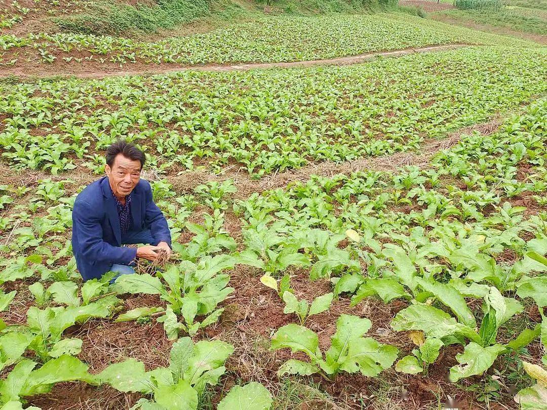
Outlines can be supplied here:
M260 383L234 386L218 403L217 410L269 410L274 400L270 392Z

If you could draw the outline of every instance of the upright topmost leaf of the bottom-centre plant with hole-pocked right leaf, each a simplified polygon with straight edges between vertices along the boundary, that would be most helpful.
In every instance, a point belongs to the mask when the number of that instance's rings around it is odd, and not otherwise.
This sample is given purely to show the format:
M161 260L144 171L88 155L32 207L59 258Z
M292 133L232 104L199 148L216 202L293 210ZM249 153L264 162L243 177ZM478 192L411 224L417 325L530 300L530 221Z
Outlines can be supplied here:
M327 362L336 364L347 354L350 341L363 337L369 331L369 319L342 314L336 321L336 333L330 338L330 348L327 351Z

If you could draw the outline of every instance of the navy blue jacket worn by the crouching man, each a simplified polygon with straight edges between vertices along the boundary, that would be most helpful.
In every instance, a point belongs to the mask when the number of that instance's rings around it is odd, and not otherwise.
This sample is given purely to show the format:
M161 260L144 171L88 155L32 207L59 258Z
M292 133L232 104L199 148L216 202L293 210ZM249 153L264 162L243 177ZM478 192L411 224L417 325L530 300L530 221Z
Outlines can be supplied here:
M171 246L171 233L161 210L152 200L148 181L139 180L131 191L131 231L149 229L154 245ZM80 192L72 210L72 251L84 280L100 278L112 265L129 265L137 248L121 246L118 210L108 178L89 184Z

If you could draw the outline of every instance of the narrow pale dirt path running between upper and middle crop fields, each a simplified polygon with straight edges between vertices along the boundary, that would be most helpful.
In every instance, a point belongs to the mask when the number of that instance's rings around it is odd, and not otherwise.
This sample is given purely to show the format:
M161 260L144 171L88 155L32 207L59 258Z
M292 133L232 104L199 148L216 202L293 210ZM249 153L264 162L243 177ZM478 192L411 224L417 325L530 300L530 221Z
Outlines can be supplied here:
M176 73L180 71L211 71L211 72L226 72L226 71L247 71L255 68L290 68L290 67L310 67L321 65L344 66L357 64L364 61L374 60L378 57L400 57L409 54L421 52L435 52L444 50L453 50L470 44L449 44L449 45L434 45L421 48L410 48L404 50L370 52L358 56L337 57L328 60L310 60L310 61L291 61L280 63L249 63L235 65L205 65L205 66L177 66L177 65L145 65L136 63L136 69L120 69L117 66L104 68L103 66L90 66L86 63L84 66L71 66L63 64L62 71L52 68L49 65L40 64L34 67L13 67L3 68L0 70L0 78L8 76L16 76L21 78L35 77L77 77L99 79L104 77L115 77L123 75L153 75ZM72 71L71 71L72 70Z

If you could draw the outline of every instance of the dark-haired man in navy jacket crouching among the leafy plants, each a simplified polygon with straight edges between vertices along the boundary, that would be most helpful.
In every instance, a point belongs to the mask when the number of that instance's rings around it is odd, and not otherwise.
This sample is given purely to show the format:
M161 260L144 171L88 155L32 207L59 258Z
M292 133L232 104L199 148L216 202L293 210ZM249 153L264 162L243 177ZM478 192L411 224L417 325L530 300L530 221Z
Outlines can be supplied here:
M141 178L144 154L118 140L106 151L106 177L80 192L72 212L72 250L84 280L135 273L135 259L171 254L171 233ZM138 248L124 244L144 244Z

